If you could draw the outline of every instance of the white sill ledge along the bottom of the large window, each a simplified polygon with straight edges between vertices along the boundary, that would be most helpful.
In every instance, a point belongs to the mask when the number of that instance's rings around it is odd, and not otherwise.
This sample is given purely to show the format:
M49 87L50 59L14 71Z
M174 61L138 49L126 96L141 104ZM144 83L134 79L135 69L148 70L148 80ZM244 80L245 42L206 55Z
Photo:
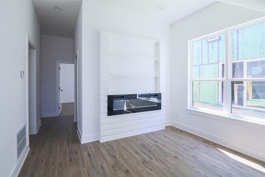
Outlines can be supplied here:
M257 129L264 130L265 120L264 121L255 121L250 120L244 116L233 116L231 114L219 113L219 112L210 112L201 109L194 109L194 108L186 108L187 112L190 114L195 114L203 117L209 117L211 119L217 119L237 125L242 125L250 128L257 127Z

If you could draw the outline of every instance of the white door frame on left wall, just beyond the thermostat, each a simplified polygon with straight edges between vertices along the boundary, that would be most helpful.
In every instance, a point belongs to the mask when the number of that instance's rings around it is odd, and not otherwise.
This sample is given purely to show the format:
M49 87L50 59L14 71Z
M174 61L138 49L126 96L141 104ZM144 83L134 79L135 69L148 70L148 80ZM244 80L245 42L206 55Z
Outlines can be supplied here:
M29 43L32 45L32 47L34 47L35 49L35 57L34 57L34 65L33 65L33 71L35 73L31 73L31 74L35 74L36 76L36 60L37 60L37 46L35 45L35 43L33 42L33 40L31 39L31 37L29 36L28 33L26 33L26 71L25 71L25 78L26 78L26 146L29 147L29 115L35 115L32 118L36 119L36 110L31 109L29 110L29 103L35 103L35 106L37 105L37 95L36 95L36 89L37 89L37 77L35 77L35 79L33 81L31 81L30 84L34 84L34 86L32 87L33 90L31 90L31 92L33 92L35 94L35 96L32 96L31 98L29 98ZM31 100L29 100L31 99ZM36 107L35 107L36 109ZM35 113L34 113L35 112ZM37 125L34 125L34 128L37 131Z

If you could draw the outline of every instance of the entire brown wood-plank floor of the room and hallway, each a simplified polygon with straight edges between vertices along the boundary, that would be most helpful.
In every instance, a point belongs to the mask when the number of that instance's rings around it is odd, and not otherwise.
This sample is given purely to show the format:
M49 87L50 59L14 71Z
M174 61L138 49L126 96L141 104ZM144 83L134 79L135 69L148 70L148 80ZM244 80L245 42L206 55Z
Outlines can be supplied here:
M43 118L19 176L265 176L265 163L174 127L80 144L73 115Z

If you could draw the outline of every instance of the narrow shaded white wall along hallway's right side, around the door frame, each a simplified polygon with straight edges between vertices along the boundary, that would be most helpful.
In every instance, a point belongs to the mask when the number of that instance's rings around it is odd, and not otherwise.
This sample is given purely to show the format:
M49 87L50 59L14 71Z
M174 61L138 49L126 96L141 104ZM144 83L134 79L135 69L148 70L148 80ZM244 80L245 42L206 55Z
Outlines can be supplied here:
M76 21L76 27L74 30L74 56L76 56L78 50L78 120L77 120L77 128L79 132L79 136L82 136L82 5L79 10L78 18ZM74 105L75 110L77 110L77 104ZM77 114L75 114L77 116Z

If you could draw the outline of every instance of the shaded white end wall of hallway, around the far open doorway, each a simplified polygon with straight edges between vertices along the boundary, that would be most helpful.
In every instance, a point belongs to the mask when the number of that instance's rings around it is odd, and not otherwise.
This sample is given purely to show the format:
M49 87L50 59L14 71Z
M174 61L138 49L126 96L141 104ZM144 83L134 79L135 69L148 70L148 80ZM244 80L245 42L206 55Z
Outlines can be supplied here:
M41 117L58 116L56 60L74 61L74 39L41 35Z

